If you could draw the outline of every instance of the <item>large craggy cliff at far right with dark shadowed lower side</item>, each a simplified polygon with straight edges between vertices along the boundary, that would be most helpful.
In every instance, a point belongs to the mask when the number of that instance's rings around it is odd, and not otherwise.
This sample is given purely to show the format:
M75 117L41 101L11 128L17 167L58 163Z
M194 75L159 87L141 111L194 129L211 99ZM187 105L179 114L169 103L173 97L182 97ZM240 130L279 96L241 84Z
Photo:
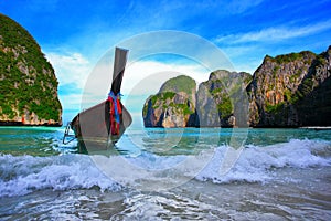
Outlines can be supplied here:
M254 127L331 125L331 48L266 56L247 86Z

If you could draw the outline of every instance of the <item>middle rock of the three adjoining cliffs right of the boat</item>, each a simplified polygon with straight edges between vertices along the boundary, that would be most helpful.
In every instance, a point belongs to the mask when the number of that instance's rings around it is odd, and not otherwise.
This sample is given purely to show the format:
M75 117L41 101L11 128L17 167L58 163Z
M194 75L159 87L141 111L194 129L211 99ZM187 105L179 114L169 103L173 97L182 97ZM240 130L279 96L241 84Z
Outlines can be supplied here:
M248 99L245 88L248 73L218 70L199 86L196 93L196 127L247 126ZM246 112L246 116L244 114Z

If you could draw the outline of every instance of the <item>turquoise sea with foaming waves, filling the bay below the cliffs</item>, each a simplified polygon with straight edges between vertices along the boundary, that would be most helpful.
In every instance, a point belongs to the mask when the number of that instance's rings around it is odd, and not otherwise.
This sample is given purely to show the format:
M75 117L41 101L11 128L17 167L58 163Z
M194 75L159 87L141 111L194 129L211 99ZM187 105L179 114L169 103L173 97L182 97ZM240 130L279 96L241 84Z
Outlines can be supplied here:
M0 127L0 220L330 220L331 130ZM93 155L92 155L93 154Z

